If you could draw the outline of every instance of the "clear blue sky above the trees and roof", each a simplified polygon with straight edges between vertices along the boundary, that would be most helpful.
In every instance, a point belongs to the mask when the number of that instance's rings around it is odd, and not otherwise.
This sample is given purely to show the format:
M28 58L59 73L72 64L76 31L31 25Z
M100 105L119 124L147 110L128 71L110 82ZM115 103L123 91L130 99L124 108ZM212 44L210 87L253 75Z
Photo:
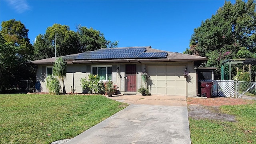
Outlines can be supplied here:
M29 29L32 44L55 23L74 31L81 24L100 30L107 40L118 40L119 47L152 46L184 52L194 28L223 5L224 0L1 0L0 21L20 20Z

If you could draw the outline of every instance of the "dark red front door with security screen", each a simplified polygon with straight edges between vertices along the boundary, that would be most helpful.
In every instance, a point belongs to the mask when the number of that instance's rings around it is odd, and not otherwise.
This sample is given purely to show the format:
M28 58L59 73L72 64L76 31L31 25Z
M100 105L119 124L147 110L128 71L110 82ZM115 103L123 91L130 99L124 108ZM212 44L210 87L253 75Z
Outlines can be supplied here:
M136 92L136 64L125 65L125 91Z

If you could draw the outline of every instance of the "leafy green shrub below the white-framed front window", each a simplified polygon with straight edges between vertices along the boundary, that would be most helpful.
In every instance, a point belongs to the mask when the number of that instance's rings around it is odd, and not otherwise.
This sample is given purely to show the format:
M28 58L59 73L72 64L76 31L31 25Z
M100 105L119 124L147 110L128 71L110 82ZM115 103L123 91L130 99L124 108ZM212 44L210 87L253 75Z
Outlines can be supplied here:
M86 78L80 80L83 90L87 90L90 94L103 94L105 91L104 84L98 75L89 75L89 81Z

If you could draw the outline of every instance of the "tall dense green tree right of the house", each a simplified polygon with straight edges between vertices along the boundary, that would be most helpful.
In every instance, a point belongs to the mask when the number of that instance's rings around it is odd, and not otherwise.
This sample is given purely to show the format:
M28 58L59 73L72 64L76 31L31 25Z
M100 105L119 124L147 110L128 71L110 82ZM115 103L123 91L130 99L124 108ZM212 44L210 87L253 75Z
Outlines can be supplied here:
M225 2L212 18L194 29L190 49L184 53L211 58L220 78L220 61L228 58L252 58L256 52L256 7L253 0ZM251 54L248 54L251 53ZM254 53L254 54L252 54Z

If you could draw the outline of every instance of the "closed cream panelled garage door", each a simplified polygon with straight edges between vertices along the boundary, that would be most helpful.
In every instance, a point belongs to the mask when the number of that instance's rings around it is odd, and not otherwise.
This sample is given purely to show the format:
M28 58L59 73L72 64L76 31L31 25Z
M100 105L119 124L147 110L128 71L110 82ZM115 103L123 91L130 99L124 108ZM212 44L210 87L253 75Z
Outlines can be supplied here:
M148 66L148 88L151 94L186 96L186 66Z

